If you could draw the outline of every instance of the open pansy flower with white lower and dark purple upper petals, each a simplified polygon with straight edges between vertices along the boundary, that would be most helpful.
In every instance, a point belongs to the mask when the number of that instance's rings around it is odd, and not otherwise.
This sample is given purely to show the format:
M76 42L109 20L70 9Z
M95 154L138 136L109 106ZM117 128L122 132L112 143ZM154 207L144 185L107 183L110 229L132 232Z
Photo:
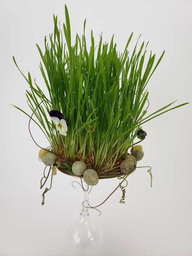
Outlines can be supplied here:
M67 126L69 126L67 120L63 117L63 114L57 110L51 110L49 112L51 120L55 123L59 134L67 135Z

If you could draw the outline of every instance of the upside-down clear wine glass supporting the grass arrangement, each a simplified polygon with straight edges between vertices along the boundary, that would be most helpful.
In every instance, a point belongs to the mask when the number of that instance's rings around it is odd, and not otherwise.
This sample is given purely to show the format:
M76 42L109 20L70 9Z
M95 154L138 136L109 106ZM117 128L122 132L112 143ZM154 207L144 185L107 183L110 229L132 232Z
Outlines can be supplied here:
M102 227L88 211L89 192L90 189L84 190L80 214L73 216L64 228L64 256L97 256L102 249Z

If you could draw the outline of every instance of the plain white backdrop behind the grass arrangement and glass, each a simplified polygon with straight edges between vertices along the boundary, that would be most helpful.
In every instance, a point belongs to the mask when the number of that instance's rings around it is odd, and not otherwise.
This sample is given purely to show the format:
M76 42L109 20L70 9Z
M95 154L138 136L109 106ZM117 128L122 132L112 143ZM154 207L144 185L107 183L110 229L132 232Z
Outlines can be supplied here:
M53 32L53 14L61 24L64 4L70 14L73 39L93 29L95 44L114 34L123 51L131 32L133 46L148 44L159 67L148 83L149 113L178 99L190 102L146 123L145 156L140 166L152 166L153 187L146 168L128 178L125 204L118 189L99 210L104 233L101 256L192 256L192 1L191 0L0 0L0 256L61 256L61 233L69 218L81 210L83 192L62 173L41 206L43 163L28 131L25 75L30 71L44 88L36 43L44 49L44 36ZM130 47L131 47L130 46ZM131 48L130 48L131 49ZM49 146L39 129L35 140ZM118 185L117 179L99 181L90 204L100 204ZM48 185L47 185L48 186ZM97 216L98 212L90 210Z

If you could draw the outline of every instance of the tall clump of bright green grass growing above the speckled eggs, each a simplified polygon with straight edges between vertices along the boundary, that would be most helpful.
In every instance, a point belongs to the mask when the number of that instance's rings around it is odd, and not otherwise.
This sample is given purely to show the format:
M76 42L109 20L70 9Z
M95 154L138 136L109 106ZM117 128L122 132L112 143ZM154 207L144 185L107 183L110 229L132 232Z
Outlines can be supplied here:
M150 52L147 57L147 44L143 42L138 47L137 42L130 53L128 46L133 33L122 53L117 52L113 37L108 44L102 43L101 35L96 47L92 31L88 50L86 20L82 37L76 35L72 46L67 6L65 17L66 24L60 29L57 16L54 16L54 32L49 35L49 43L45 37L44 53L37 45L48 94L36 82L32 83L30 73L28 77L23 75L30 89L26 90L27 101L36 116L32 119L47 137L52 151L58 154L63 172L73 175L73 161L83 160L87 167L98 172L99 177L118 176L115 167L127 154L142 125L186 103L169 108L172 102L147 116L146 85L164 52L155 63L155 54ZM49 118L51 110L61 111L67 119L66 137L55 130Z

